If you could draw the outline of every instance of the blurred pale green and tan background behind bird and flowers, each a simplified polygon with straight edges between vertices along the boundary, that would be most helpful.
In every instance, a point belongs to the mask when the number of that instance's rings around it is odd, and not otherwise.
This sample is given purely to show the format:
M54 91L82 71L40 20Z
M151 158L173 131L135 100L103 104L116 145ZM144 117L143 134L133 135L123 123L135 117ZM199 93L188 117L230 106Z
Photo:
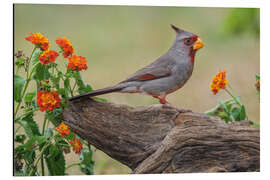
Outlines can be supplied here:
M205 43L195 58L191 79L168 101L180 108L205 112L219 99L229 98L224 92L213 95L212 77L226 69L229 83L241 96L251 120L259 122L260 106L256 94L255 74L259 74L259 10L195 7L139 7L94 5L31 5L14 7L14 50L30 55L32 44L25 40L29 32L40 32L57 49L54 42L66 36L75 54L88 60L82 73L94 89L124 80L136 70L165 53L175 38L170 24L198 34ZM58 58L62 61L62 58ZM142 95L108 94L108 101L131 106L158 103ZM78 160L68 155L67 163ZM95 174L126 174L131 170L103 152L94 153ZM81 174L79 168L67 173Z

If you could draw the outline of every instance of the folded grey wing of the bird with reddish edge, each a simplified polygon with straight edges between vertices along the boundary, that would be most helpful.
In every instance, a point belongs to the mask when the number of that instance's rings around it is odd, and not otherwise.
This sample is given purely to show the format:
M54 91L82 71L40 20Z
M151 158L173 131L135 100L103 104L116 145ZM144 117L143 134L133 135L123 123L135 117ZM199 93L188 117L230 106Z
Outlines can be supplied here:
M121 83L159 79L162 77L170 76L171 74L171 61L168 61L168 59L161 57L152 64L140 69Z

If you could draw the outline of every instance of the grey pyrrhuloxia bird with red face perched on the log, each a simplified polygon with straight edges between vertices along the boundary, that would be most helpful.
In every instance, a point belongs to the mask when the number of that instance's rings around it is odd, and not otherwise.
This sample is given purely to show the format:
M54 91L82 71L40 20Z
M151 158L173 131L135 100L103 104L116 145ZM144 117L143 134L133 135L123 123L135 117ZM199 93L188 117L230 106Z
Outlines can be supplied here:
M174 25L171 27L176 32L176 39L171 48L156 61L114 86L74 96L70 100L112 92L142 93L157 98L161 104L170 105L166 95L187 82L193 71L195 53L203 47L197 35Z

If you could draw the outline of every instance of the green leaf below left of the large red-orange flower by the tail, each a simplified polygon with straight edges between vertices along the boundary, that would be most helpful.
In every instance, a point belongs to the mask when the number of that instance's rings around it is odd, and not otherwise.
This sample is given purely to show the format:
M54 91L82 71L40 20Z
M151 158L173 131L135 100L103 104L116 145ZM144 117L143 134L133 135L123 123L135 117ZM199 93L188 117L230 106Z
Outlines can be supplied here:
M34 135L40 135L39 127L33 119L33 113L27 114L19 121L19 123L23 126L29 138Z

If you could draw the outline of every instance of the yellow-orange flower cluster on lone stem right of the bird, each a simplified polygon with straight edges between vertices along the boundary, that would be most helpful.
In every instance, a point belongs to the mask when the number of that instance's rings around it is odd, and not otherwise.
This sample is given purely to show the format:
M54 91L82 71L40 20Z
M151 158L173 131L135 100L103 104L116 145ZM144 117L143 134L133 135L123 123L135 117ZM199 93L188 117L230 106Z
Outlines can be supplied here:
M220 89L225 89L228 81L226 80L226 71L220 71L217 75L213 77L213 81L210 84L211 91L217 94Z

